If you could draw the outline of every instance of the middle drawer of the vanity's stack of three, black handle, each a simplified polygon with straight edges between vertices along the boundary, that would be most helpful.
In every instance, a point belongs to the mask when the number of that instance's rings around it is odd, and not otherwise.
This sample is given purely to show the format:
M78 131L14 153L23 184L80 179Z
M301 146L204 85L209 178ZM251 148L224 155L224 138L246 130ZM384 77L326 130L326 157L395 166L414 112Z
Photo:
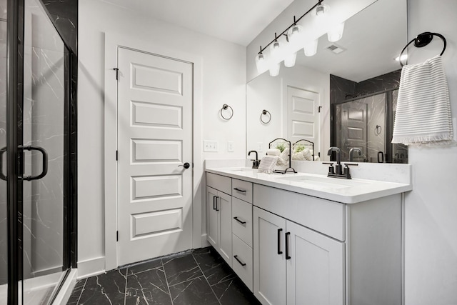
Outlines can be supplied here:
M233 197L231 204L232 232L252 247L252 204Z

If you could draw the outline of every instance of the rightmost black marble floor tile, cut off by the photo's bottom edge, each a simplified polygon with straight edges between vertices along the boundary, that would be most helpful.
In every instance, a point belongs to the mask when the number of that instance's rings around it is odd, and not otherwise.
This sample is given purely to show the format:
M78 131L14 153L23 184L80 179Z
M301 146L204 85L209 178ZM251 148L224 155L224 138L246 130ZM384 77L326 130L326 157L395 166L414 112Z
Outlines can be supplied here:
M224 281L211 286L211 288L214 290L214 294L216 294L222 305L261 304L257 301L256 297L253 296L248 287L238 278Z

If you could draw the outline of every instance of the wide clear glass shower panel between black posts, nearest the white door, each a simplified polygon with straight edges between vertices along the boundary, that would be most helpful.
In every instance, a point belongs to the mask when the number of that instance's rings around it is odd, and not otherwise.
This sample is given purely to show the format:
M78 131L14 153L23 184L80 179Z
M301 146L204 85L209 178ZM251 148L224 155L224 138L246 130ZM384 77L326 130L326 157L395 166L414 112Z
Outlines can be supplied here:
M24 304L48 304L64 267L65 46L39 0L24 1L22 289Z

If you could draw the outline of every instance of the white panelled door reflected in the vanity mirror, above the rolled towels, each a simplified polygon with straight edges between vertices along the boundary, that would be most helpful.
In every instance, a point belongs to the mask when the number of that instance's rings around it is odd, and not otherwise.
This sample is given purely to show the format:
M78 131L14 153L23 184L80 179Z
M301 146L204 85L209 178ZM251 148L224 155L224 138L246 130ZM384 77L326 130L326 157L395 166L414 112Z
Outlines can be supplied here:
M318 114L320 105L320 94L287 86L287 139L292 144L300 139L313 142L316 156L321 145Z

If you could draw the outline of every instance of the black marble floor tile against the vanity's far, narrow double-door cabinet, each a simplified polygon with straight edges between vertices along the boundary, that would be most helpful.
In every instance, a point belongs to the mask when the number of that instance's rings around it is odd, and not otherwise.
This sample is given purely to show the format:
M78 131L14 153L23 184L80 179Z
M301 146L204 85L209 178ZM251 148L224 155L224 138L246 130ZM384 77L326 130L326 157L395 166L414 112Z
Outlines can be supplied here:
M235 278L230 266L212 247L194 251L193 255L211 286Z

